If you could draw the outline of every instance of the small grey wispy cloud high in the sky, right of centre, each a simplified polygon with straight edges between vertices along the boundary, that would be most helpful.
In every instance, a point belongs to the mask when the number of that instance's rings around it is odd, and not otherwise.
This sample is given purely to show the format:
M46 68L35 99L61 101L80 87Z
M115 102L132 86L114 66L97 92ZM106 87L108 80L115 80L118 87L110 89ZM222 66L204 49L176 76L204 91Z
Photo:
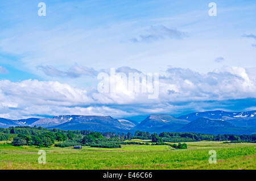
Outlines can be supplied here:
M147 35L139 35L137 38L131 39L133 43L138 42L150 42L157 41L161 39L181 39L185 36L185 33L177 30L176 28L167 28L165 26L151 26L148 30L149 33Z

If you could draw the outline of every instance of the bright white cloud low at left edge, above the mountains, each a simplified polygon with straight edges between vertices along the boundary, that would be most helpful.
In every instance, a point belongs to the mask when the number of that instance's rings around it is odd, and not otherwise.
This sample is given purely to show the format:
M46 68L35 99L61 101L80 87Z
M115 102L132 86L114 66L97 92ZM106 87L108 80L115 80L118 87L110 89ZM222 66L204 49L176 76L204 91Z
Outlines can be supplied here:
M13 115L51 115L55 107L89 106L93 103L86 90L67 84L26 80L22 82L0 81L0 112Z

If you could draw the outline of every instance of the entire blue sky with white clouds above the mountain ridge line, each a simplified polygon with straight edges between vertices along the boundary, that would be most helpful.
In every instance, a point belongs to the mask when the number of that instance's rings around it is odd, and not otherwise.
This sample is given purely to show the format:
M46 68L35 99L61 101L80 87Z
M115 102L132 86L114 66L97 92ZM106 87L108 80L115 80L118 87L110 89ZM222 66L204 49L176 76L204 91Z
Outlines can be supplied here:
M254 0L1 0L0 117L256 110L255 9ZM158 97L121 77L118 91L100 92L98 75L111 69L158 73Z

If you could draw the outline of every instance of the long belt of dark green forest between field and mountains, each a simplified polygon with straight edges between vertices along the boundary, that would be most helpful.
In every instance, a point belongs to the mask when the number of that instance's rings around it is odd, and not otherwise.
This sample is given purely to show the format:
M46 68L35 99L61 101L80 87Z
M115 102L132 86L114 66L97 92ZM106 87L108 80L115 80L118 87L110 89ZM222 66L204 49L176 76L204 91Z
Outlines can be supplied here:
M131 139L148 140L137 142ZM201 133L149 133L136 131L133 133L93 132L93 131L64 131L61 129L46 129L42 127L10 127L0 128L0 141L10 140L14 146L35 145L41 147L68 147L75 145L98 148L121 148L121 145L170 145L175 149L187 149L181 142L194 141L225 141L256 142L256 134L201 134ZM178 143L178 144L170 144Z

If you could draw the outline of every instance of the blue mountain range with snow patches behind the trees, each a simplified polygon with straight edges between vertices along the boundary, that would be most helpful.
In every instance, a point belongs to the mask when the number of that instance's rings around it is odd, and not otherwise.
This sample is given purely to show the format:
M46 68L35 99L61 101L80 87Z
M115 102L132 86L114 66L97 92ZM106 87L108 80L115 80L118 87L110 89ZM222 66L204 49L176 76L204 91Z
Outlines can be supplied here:
M43 127L63 130L90 130L97 132L194 132L208 134L255 134L256 111L225 112L205 111L174 117L150 115L140 123L130 119L114 119L111 116L63 115L52 118L11 120L0 118L0 127Z

